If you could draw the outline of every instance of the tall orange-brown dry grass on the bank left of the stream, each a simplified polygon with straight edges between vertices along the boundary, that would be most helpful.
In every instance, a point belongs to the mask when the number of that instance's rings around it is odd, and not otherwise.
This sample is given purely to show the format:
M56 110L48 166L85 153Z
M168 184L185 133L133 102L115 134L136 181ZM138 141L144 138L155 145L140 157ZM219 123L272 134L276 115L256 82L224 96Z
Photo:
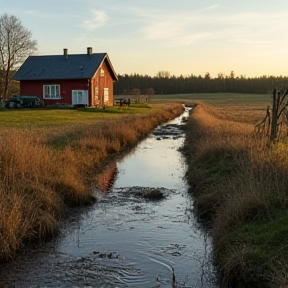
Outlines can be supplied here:
M95 201L92 182L104 161L182 111L181 105L159 105L69 127L2 128L0 259L56 235L68 207Z

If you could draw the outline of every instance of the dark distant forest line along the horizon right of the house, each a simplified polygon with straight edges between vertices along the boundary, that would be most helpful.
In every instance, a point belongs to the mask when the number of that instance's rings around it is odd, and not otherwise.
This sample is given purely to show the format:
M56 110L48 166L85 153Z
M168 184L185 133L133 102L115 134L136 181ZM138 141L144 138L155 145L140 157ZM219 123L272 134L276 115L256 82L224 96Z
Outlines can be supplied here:
M114 83L115 95L154 95L182 93L271 93L275 87L287 87L287 76L261 76L247 78L235 76L232 71L229 76L222 73L217 78L211 78L209 73L202 76L143 76L139 74L118 75Z

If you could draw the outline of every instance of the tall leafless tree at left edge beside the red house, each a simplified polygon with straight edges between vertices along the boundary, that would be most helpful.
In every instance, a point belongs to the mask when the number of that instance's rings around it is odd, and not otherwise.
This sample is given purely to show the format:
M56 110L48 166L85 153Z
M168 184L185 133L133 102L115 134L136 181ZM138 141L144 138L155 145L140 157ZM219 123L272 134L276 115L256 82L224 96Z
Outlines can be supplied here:
M2 99L7 98L9 83L15 70L37 51L37 41L21 21L11 15L0 17L0 71L3 85Z

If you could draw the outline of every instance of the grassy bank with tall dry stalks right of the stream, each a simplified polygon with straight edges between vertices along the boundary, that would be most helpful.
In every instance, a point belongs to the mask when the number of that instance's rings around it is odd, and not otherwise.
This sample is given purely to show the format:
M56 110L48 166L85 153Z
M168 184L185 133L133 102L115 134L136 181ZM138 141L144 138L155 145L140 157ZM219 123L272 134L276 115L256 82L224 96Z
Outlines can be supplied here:
M288 145L255 137L249 123L257 113L246 112L240 118L238 108L196 107L186 141L188 181L198 215L212 221L223 287L241 281L287 285L287 265L279 263L287 256Z

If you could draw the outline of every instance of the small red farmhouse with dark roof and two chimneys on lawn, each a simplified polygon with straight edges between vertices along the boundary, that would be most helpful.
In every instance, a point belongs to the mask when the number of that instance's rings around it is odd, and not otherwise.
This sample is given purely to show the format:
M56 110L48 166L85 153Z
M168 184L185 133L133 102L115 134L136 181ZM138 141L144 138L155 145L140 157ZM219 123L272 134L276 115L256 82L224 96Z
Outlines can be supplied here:
M117 75L107 53L29 56L13 79L20 81L21 95L35 95L45 105L90 107L113 105Z

